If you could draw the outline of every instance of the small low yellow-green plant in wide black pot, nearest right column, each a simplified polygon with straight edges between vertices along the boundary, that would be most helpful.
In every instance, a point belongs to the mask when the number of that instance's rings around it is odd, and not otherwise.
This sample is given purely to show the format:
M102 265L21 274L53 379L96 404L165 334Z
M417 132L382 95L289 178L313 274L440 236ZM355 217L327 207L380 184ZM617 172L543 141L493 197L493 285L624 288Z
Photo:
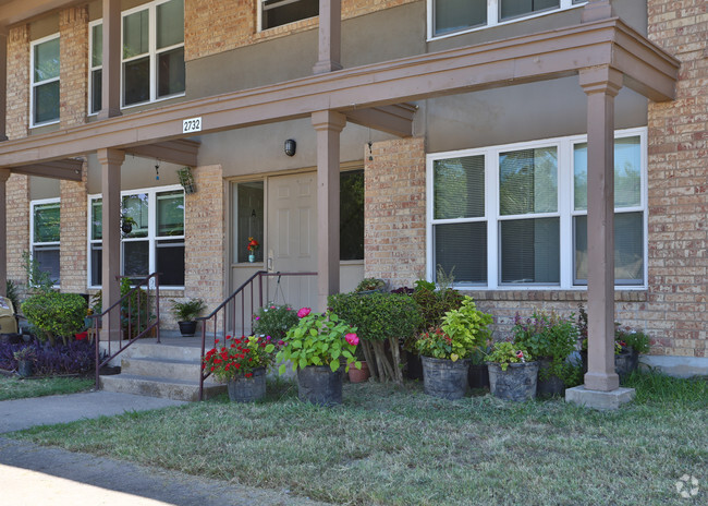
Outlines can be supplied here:
M538 362L513 342L497 342L487 356L489 390L505 400L529 400L536 397Z

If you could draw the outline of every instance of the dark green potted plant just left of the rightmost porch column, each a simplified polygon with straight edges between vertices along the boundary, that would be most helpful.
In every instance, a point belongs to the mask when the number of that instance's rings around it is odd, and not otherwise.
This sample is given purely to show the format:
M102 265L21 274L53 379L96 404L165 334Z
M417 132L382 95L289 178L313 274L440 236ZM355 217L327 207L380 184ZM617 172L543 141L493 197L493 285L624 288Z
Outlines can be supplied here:
M554 311L534 311L529 318L516 313L514 345L528 350L538 360L538 394L562 395L577 376L567 358L575 350L578 330L573 315L564 318Z

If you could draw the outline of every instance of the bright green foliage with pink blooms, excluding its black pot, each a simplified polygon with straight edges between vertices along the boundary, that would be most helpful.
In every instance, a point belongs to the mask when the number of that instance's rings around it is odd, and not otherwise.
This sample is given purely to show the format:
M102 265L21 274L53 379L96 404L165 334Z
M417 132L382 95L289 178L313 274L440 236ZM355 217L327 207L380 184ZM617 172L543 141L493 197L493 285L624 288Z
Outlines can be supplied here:
M341 359L346 363L346 371L352 362L356 369L362 368L362 362L355 358L359 342L355 327L331 311L310 314L309 308L303 308L297 315L300 322L288 330L283 348L276 357L278 362L290 362L293 371L308 365L329 365L334 372L341 366ZM282 363L280 374L284 374L286 364Z

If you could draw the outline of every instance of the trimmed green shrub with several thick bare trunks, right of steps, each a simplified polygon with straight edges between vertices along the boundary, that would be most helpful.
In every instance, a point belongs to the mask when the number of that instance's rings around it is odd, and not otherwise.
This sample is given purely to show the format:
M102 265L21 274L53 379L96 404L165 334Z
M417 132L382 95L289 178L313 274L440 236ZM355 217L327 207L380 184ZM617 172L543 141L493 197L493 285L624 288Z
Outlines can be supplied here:
M400 342L420 324L415 301L404 293L339 293L330 296L329 306L358 329L371 377L402 383Z

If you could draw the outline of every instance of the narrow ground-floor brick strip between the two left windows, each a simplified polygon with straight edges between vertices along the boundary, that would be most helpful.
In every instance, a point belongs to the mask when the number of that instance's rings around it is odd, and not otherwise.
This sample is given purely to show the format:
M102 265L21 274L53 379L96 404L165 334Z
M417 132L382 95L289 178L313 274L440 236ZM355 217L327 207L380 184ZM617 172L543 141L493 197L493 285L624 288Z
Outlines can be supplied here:
M82 181L60 181L61 225L59 278L61 291L85 293L87 286L86 227L88 193L87 167L82 168Z

